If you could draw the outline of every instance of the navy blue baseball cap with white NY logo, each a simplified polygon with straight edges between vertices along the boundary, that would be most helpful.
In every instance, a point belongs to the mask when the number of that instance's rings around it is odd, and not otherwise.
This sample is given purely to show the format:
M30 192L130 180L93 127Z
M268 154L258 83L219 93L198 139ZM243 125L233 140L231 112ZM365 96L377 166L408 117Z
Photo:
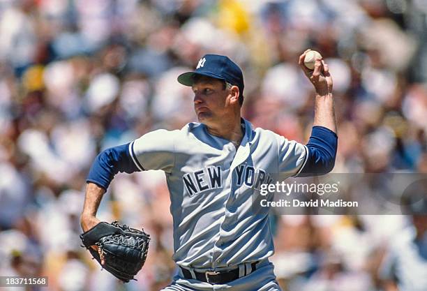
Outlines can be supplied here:
M193 86L196 75L214 77L229 82L239 87L240 95L243 96L245 87L243 73L239 66L228 57L220 56L219 54L205 54L193 72L183 73L178 76L178 82L186 86Z

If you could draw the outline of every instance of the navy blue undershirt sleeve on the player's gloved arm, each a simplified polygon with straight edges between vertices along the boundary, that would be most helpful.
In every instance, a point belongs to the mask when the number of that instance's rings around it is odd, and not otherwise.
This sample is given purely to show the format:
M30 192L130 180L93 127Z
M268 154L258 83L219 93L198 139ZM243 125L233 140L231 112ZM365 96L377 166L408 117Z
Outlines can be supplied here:
M107 190L114 175L118 172L128 174L139 172L129 154L129 144L101 151L91 166L86 182L92 182Z

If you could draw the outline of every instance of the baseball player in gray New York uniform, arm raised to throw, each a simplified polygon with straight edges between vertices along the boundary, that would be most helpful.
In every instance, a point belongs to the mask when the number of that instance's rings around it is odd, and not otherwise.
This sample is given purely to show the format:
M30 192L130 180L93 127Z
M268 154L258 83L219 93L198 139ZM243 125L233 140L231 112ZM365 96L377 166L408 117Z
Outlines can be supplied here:
M269 262L274 253L269 215L251 211L254 186L271 173L325 174L334 167L337 149L328 66L317 59L309 70L305 54L299 65L316 90L308 144L242 119L241 69L228 57L207 54L193 72L178 77L193 89L199 123L155 130L101 152L87 178L82 229L100 222L96 211L114 174L163 170L173 216L172 258L178 266L164 290L280 290Z

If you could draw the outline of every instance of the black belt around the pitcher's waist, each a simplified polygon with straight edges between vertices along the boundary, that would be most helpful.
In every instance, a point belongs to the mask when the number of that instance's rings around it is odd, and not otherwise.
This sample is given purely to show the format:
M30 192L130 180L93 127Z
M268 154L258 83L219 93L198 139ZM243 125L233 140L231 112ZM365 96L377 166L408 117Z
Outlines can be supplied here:
M257 269L257 263L258 262L253 262L252 264L250 264L251 271L250 272L245 271L244 276L246 276L246 274L250 274L251 272L255 271ZM183 267L180 267L180 268L184 278L196 279L198 281L206 282L209 284L225 284L240 278L239 267L237 267L236 269L231 269L227 271L206 271L206 272L194 271L195 278L191 276L191 272L188 271L188 269L184 269Z

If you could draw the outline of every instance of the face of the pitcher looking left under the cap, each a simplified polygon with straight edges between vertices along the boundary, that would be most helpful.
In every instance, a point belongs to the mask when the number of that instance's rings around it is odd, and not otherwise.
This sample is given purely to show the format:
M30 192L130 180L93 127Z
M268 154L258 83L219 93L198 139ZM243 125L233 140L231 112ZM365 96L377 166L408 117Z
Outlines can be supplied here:
M231 90L223 86L222 81L211 77L200 77L192 86L197 119L207 126L220 124L232 112L229 98Z

